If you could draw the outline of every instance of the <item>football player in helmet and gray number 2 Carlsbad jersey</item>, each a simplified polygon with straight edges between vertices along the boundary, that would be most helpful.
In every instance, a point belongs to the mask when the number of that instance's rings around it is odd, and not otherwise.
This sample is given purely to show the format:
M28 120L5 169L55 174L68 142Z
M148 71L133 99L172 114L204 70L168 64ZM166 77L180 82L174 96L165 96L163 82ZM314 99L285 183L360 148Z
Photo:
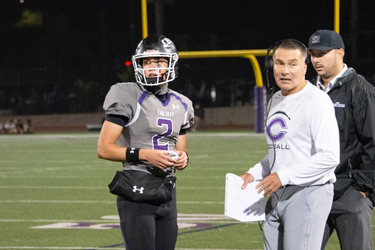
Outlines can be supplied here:
M107 118L98 157L122 162L125 174L174 176L175 169L187 166L186 129L194 123L192 102L168 89L168 82L177 76L177 49L165 36L150 35L138 44L132 61L137 82L115 84L105 97ZM135 187L133 192L143 189ZM171 201L156 205L117 196L127 250L174 249L178 229L174 184L171 196Z

